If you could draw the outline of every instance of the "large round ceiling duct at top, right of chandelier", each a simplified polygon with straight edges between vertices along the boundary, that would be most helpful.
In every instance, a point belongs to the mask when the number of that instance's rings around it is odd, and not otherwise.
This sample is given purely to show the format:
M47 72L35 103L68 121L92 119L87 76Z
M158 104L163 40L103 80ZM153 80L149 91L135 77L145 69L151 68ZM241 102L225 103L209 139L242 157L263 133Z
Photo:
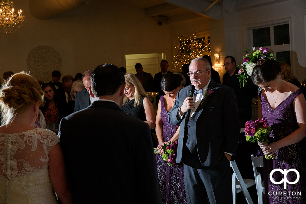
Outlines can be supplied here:
M66 11L85 6L90 0L30 0L30 13L38 19L47 19Z

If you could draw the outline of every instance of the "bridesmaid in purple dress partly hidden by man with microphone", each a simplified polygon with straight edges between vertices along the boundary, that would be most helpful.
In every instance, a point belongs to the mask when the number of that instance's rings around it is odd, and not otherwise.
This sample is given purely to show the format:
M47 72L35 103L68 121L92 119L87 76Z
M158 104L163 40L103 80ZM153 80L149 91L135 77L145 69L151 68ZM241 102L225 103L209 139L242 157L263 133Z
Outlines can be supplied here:
M162 146L169 141L175 142L179 135L179 125L170 125L168 113L173 107L182 77L178 74L165 74L161 87L166 95L160 98L156 115L156 136L159 142L159 154L163 155ZM185 194L183 166L169 166L162 156L156 155L157 173L163 204L187 203Z

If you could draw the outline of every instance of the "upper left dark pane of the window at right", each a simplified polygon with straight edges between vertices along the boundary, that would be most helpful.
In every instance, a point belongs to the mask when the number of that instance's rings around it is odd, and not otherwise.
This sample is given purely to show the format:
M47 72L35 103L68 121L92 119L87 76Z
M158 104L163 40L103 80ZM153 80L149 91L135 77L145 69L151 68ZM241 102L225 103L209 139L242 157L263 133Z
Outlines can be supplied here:
M271 46L270 27L253 29L253 47Z

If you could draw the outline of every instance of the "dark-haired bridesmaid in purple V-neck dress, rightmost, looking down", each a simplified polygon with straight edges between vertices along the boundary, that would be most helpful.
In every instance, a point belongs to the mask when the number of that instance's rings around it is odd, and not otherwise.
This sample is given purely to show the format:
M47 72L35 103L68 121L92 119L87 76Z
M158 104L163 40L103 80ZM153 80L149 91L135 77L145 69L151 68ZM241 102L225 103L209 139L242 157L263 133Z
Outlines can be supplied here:
M280 78L280 65L275 60L257 63L252 79L262 87L259 93L258 117L267 117L275 129L269 145L258 143L264 155L275 155L272 160L264 159L263 180L265 182L264 203L303 204L306 203L306 102L303 92L295 85ZM296 169L300 179L296 184L274 184L270 180L273 169ZM281 181L283 174L273 173L274 181ZM294 182L297 174L287 174L287 180ZM277 195L276 195L277 194ZM300 195L298 195L300 194Z

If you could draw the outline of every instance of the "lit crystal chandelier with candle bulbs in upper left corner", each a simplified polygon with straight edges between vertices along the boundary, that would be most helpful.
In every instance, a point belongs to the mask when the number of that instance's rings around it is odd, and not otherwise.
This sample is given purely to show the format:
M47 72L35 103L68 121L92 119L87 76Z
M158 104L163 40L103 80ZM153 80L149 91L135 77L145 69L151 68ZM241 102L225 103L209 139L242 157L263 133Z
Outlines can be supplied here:
M18 11L18 16L15 14L13 8L13 2L1 2L0 3L0 31L6 33L17 31L17 28L23 26L24 16L22 11Z

